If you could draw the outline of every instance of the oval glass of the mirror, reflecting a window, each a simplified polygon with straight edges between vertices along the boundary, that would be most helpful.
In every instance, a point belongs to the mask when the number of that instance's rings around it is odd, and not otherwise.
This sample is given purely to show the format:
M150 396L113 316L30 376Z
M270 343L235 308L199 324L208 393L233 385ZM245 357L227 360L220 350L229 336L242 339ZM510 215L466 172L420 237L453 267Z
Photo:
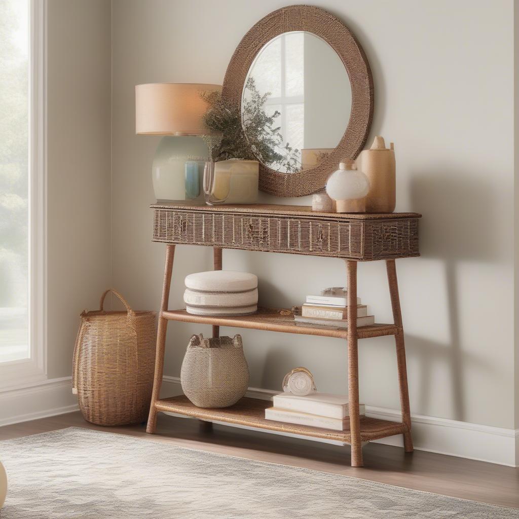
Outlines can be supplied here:
M241 117L256 158L293 173L316 167L342 139L351 86L335 50L309 32L287 32L258 52L245 80Z

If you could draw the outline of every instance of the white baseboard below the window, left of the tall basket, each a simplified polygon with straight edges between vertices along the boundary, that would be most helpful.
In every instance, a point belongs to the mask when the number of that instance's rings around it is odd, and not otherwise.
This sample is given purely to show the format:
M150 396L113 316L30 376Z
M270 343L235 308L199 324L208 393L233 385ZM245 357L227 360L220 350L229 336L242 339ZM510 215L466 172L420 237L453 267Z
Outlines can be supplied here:
M0 392L0 426L77 411L72 377L52 378Z

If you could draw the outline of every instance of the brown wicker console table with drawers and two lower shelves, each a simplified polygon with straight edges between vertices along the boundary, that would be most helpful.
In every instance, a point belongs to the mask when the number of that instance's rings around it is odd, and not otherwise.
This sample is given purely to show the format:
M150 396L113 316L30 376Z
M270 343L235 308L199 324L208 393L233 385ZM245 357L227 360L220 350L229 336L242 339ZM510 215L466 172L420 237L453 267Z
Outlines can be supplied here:
M155 204L153 241L166 243L166 266L157 333L157 356L152 403L146 431L154 433L157 412L166 411L202 420L227 422L265 430L336 440L351 445L351 465L362 467L362 442L403 434L406 452L412 452L411 415L407 390L404 333L395 259L419 256L417 213L337 214L317 213L304 206L251 205L206 206L193 202ZM252 316L195 316L169 310L169 291L175 244L213 247L214 269L222 269L222 249L283 252L342 258L346 262L348 329L296 326L293 316L281 309L259 309ZM357 263L385 260L393 311L392 324L357 328ZM268 402L243 398L224 409L202 409L184 395L159 399L163 376L168 321L234 326L283 333L347 339L349 428L331 431L317 427L266 420ZM358 339L393 335L396 344L402 422L361 417L359 414Z

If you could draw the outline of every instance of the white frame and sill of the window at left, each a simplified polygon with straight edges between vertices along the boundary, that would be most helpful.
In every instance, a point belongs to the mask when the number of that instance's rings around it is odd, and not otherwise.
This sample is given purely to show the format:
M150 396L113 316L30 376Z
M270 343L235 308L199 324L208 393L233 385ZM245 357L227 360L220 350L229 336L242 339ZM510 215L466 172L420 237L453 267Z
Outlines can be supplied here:
M29 353L0 363L0 390L47 378L47 0L30 0Z

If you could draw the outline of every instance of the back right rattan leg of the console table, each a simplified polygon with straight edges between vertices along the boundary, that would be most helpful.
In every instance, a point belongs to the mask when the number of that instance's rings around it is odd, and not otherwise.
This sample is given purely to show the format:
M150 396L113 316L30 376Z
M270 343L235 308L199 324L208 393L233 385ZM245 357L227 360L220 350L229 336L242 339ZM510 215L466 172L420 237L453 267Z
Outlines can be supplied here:
M402 310L400 309L400 296L398 293L397 266L394 260L386 260L388 275L389 295L391 297L391 308L393 320L400 328L394 336L397 346L398 381L400 386L400 407L402 409L402 422L407 427L404 433L405 452L413 452L413 438L411 436L411 408L409 407L409 389L407 386L407 367L405 362L404 331L402 328Z

